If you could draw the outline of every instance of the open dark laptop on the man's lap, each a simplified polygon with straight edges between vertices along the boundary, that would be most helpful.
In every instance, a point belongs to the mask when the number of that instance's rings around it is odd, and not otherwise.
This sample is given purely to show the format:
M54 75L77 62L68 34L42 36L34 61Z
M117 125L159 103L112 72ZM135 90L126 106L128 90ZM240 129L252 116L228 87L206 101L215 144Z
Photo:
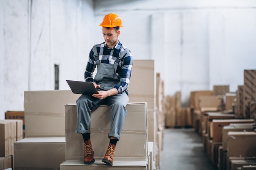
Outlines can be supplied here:
M92 82L80 82L74 80L66 80L67 84L70 86L71 90L75 94L81 95L92 95L98 93Z

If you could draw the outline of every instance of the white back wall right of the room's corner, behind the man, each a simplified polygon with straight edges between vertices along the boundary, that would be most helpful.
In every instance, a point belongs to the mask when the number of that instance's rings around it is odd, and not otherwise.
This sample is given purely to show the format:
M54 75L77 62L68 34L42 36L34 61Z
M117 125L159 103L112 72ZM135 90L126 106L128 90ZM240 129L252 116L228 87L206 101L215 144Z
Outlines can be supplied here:
M256 69L256 1L97 0L95 15L117 13L120 41L134 59L154 59L165 94L243 84L243 70ZM95 38L97 40L98 37Z

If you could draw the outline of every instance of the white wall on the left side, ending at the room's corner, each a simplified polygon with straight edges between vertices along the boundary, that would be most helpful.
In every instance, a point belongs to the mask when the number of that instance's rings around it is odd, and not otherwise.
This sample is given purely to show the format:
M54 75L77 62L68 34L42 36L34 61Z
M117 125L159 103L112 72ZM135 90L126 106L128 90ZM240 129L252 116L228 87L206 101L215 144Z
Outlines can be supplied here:
M92 0L0 0L0 119L24 91L54 90L54 64L60 90L83 80L93 25Z

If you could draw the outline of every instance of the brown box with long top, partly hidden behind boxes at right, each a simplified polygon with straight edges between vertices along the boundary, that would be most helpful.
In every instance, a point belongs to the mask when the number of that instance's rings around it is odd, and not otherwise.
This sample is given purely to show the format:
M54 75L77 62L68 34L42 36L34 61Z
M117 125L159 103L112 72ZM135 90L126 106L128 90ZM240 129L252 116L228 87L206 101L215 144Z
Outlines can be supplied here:
M210 137L213 142L222 142L222 128L229 124L254 123L253 119L213 119L210 124Z

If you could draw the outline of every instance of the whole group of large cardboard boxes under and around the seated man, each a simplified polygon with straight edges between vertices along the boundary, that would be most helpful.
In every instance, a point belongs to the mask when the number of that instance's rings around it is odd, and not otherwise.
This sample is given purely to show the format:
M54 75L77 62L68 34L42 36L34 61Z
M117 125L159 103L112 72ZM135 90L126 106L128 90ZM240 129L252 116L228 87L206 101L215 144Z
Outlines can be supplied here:
M25 138L14 143L15 169L159 168L163 137L159 131L164 126L159 125L159 120L164 118L156 107L156 75L153 60L134 61L128 114L113 166L101 162L108 146L108 106L102 105L92 112L91 141L96 161L84 165L82 135L75 133L75 103L79 95L71 91L25 91Z

